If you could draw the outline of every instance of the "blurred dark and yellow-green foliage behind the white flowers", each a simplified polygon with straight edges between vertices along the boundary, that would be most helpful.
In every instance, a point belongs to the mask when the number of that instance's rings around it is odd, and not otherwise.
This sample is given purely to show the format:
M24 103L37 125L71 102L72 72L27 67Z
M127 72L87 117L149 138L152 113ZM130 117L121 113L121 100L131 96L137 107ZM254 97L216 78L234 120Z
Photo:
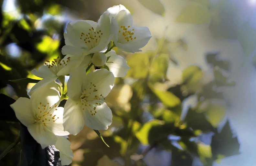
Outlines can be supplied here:
M65 44L64 23L51 19L51 22L46 23L50 25L46 26L48 28L37 29L38 19L44 12L59 15L66 7L82 14L85 6L93 2L80 0L29 0L26 3L18 0L17 2L20 12L26 14L21 19L11 19L3 11L0 15L0 88L2 93L0 101L3 115L0 123L0 150L4 151L8 147L6 145L11 144L10 142L14 141L13 138L18 135L21 137L21 142L20 148L15 147L0 161L0 165L17 165L17 163L21 166L39 165L39 163L42 166L60 165L59 151L54 146L49 146L45 150L40 149L40 145L31 137L27 128L19 125L9 105L18 97L28 97L26 87L29 88L31 83L37 82L38 78L29 78L29 71L40 66L48 58L63 57L61 48ZM139 0L139 2L153 13L165 14L164 6L160 1L155 1L154 4L144 0ZM88 12L93 10L92 8L86 9ZM208 24L211 17L213 16L209 1L195 0L181 11L176 22ZM96 21L97 18L97 15L90 16L91 20ZM210 28L216 29L217 23L214 20L210 24L214 24L214 26L210 25ZM251 32L246 24L239 30ZM238 36L247 54L252 52L252 45L248 45L247 41L248 36L253 40L250 32L241 33ZM58 36L57 39L56 36ZM172 151L170 164L172 166L191 166L196 157L200 158L204 165L212 165L219 159L239 154L240 145L237 137L233 137L229 122L226 122L221 132L217 130L228 107L223 102L223 93L217 89L235 85L235 82L229 80L224 74L229 73L229 61L218 59L219 53L208 53L206 63L210 66L210 73L214 76L212 80L204 82L205 71L199 66L190 65L183 70L182 81L171 84L166 73L170 64L180 63L171 55L176 48L168 49L167 43L171 41L167 38L160 38L156 42L156 51L133 55L120 51L123 56L127 57L127 63L131 69L125 78L116 78L115 86L106 98L113 113L113 123L107 131L96 131L96 134L84 127L78 138L70 136L69 140L74 145L73 151L81 158L75 157L74 164L146 165L142 157L152 149L158 148L163 151ZM7 45L11 43L16 43L21 48L22 52L19 57L13 57L8 53ZM182 39L178 43L184 49L187 48L186 42ZM127 83L129 79L133 83ZM9 90L10 87L13 90ZM119 94L120 89L125 95ZM198 102L194 107L189 107L187 113L185 111L186 117L181 119L181 114L184 112L183 102L191 96L196 96ZM64 102L62 101L61 104L64 105ZM2 120L8 122L2 122ZM204 144L199 137L209 132L213 133L212 141L210 144ZM99 138L97 135L102 137ZM171 136L177 136L178 139L174 140ZM102 142L102 138L110 148ZM142 145L146 145L147 148L141 150ZM20 157L19 151L21 151ZM121 162L113 162L114 159L119 159Z

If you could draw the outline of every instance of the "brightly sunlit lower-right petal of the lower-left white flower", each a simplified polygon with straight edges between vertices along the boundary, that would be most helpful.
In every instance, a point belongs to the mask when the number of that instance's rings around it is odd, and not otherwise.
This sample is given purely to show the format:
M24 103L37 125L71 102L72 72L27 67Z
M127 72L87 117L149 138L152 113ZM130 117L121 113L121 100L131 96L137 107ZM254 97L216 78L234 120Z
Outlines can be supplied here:
M55 110L52 114L55 116L55 122L49 123L47 125L48 129L53 132L55 135L63 136L63 135L69 135L69 132L64 132L63 127L63 107L57 107L57 110ZM58 119L57 119L58 118Z

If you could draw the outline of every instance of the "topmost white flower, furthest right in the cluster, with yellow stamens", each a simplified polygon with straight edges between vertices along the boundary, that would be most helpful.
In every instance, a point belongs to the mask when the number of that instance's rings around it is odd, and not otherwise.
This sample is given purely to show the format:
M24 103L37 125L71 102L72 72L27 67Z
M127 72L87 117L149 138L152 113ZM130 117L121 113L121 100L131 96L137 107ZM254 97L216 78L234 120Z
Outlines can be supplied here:
M133 26L132 15L123 5L110 7L105 13L109 14L113 26L118 29L112 41L119 49L128 53L140 52L140 48L152 37L147 27Z

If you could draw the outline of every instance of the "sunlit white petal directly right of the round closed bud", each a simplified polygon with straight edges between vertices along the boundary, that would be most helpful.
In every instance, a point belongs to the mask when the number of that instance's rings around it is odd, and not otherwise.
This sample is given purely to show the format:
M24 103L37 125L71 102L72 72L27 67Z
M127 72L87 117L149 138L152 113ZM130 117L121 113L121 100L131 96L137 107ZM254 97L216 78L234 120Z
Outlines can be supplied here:
M106 63L109 71L112 72L115 77L125 77L130 69L125 59L122 56L117 55L114 50L108 52L106 56L110 56L108 62L113 62Z

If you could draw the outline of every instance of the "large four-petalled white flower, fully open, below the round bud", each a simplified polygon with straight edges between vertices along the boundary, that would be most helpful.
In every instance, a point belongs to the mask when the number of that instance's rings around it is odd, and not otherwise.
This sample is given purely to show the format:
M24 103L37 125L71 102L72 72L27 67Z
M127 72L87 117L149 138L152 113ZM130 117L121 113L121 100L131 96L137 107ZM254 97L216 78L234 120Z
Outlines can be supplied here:
M69 99L64 106L65 131L76 135L84 125L94 130L107 130L112 123L112 112L104 100L114 86L114 75L106 69L86 75L83 67L70 70Z

